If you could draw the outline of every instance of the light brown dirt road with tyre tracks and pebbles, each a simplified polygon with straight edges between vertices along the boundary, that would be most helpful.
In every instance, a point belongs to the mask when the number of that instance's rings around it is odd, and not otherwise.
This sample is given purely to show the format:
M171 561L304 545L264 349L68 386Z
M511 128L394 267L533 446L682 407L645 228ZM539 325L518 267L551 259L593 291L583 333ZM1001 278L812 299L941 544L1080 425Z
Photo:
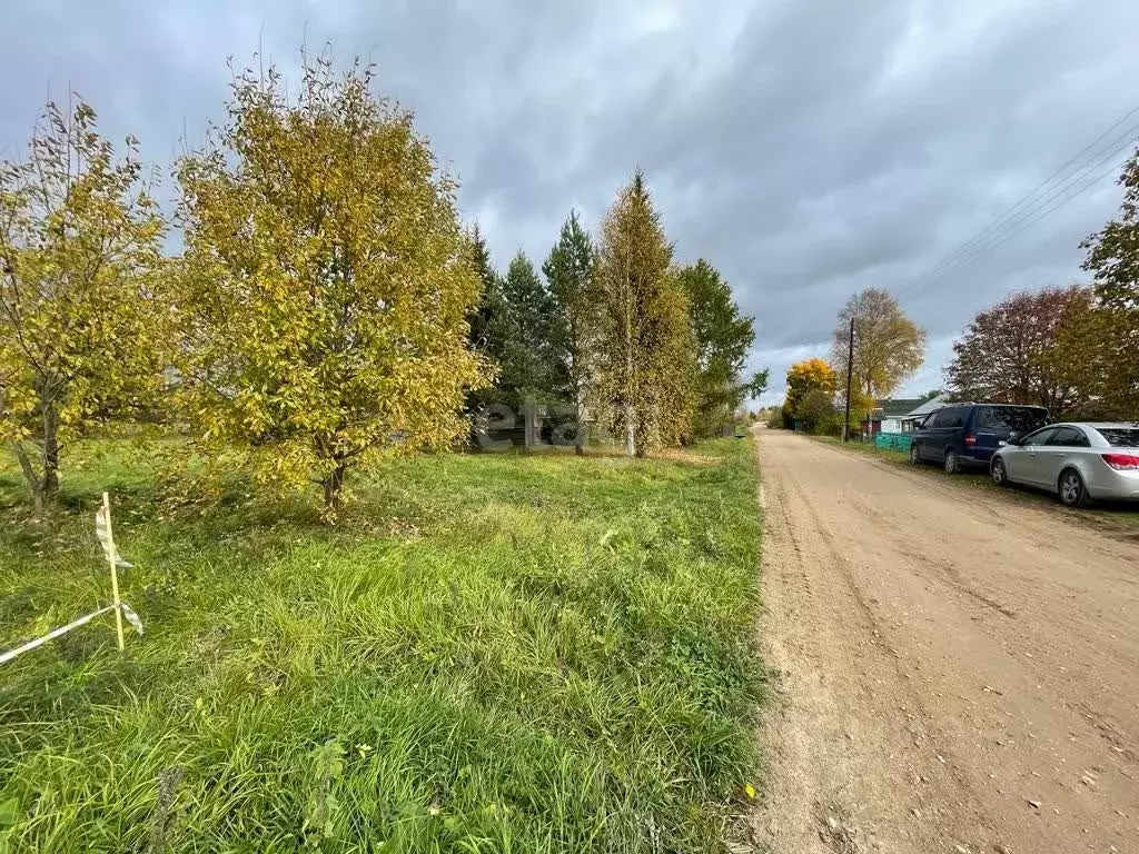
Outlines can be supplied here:
M756 432L776 852L1139 852L1139 541Z

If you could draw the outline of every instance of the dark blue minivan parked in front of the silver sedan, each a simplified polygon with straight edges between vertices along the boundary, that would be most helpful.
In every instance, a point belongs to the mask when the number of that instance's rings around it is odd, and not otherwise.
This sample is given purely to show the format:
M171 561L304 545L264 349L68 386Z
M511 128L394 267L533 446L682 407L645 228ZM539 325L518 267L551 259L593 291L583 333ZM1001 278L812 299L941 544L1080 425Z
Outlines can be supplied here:
M1048 410L1043 407L951 403L918 425L910 443L910 462L936 462L951 475L968 466L988 467L998 447L1046 424Z

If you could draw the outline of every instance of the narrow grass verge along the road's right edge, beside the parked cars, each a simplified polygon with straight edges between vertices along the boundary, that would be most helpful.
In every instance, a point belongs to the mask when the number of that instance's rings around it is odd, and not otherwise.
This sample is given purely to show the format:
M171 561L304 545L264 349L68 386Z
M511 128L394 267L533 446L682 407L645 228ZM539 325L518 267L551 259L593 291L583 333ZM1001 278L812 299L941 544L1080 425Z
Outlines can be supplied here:
M847 442L844 445L841 440L833 436L811 436L811 438L823 444L835 445L844 451L863 453L885 462L904 466L912 471L928 477L941 478L947 485L956 488L982 490L986 493L999 494L1009 501L1021 501L1035 507L1047 508L1063 514L1071 519L1092 525L1109 533L1122 533L1129 537L1139 534L1139 507L1132 503L1097 502L1090 508L1070 510L1060 504L1054 494L1043 490L1035 490L1030 486L998 486L984 469L970 469L956 475L949 475L939 466L925 463L920 466L912 465L909 453L906 451L880 449L868 442Z

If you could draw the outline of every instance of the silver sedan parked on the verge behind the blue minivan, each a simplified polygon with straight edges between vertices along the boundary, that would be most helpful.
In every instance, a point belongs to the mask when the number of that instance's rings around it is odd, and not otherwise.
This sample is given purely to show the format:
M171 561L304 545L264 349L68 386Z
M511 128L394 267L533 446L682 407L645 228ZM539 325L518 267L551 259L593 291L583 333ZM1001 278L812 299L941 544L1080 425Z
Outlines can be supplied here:
M1050 424L1013 440L989 463L993 483L1055 492L1068 507L1139 501L1139 421Z

